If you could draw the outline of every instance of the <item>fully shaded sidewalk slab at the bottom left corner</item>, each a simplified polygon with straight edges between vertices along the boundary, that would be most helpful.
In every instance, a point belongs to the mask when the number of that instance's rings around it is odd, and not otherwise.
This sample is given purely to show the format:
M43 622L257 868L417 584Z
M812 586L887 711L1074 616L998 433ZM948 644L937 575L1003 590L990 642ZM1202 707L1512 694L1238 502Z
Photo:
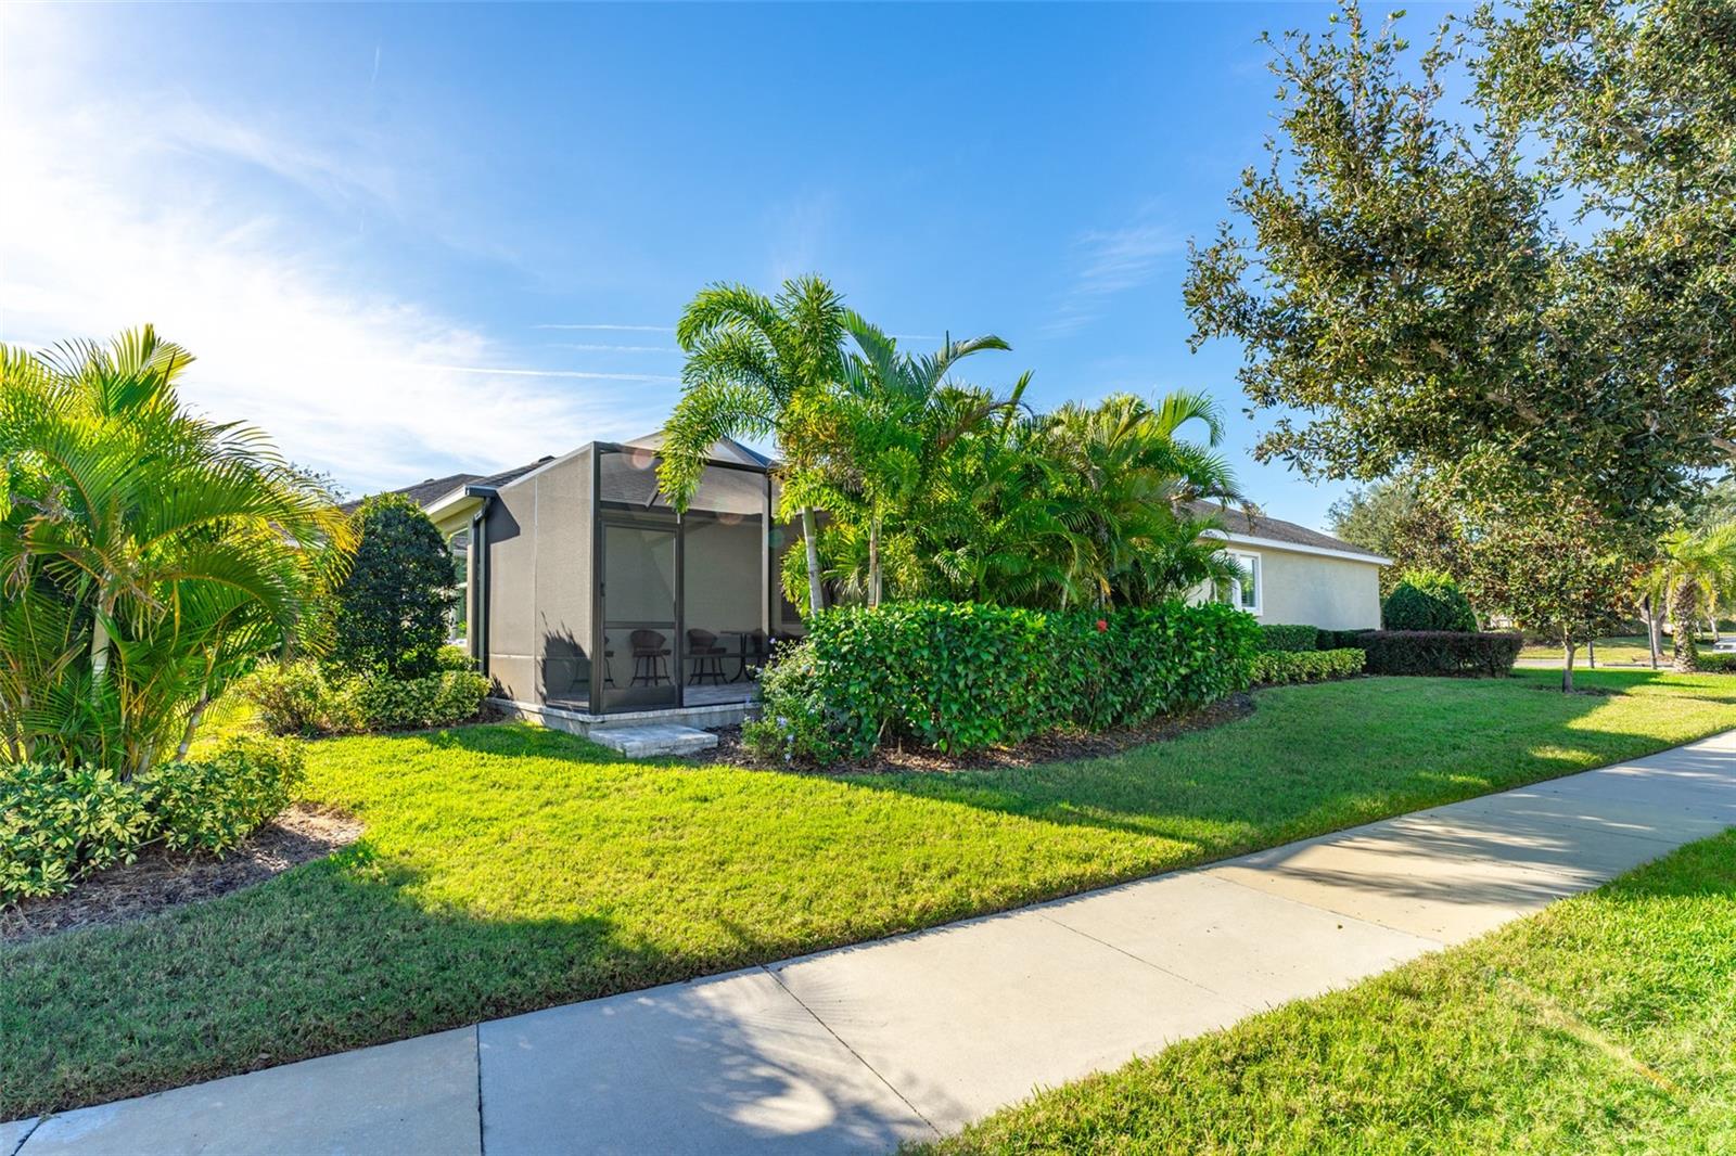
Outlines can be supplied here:
M384 1043L43 1120L19 1156L479 1156L476 1029Z

